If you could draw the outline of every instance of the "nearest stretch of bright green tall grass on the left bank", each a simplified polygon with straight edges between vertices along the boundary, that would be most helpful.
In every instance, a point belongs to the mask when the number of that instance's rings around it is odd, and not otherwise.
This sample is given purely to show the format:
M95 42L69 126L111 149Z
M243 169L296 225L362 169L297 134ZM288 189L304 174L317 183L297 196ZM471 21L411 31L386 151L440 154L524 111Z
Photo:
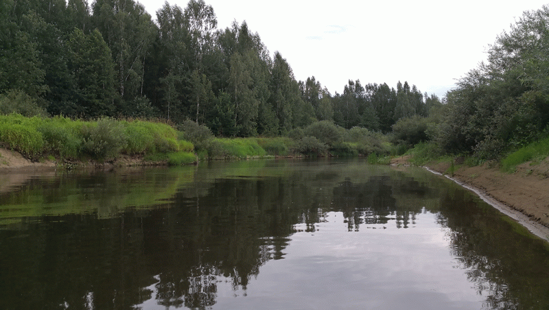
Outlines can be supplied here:
M58 156L61 159L113 160L121 154L168 154L194 151L189 141L165 123L97 119L80 121L65 117L0 115L0 145L30 158ZM187 155L185 155L187 156ZM191 154L194 157L194 154ZM174 160L174 162L187 162Z

